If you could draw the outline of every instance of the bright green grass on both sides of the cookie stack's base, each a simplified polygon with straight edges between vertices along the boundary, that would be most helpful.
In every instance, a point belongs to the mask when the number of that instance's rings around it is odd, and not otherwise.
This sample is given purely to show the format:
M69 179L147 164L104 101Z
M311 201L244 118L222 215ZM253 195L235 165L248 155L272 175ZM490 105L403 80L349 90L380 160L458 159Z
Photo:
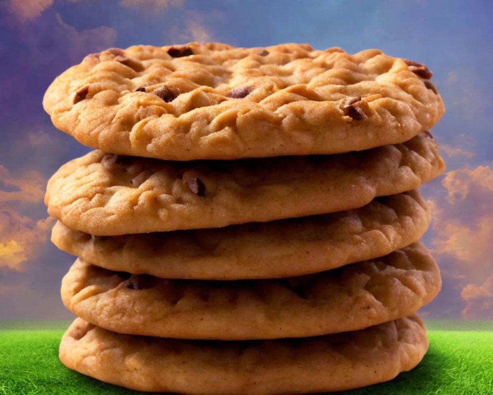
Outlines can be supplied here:
M25 325L26 327L27 325ZM58 360L63 329L0 330L0 395L138 394L85 377ZM339 395L491 395L493 332L428 332L430 348L411 372Z

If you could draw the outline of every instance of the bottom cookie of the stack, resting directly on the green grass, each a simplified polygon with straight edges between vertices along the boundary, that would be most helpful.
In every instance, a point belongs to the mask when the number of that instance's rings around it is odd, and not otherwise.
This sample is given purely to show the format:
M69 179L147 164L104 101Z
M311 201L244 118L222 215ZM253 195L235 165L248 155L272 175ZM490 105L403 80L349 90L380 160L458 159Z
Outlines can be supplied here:
M302 339L210 341L122 335L75 319L62 338L70 369L138 391L274 395L341 391L390 380L428 348L416 315Z

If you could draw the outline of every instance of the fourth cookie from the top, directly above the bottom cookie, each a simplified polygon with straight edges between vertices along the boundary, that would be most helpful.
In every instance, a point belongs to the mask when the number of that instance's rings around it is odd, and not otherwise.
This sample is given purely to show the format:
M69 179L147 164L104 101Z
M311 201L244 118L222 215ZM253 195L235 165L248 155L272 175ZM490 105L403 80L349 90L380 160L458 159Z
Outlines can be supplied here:
M417 242L371 261L263 280L164 279L78 259L62 280L62 300L75 315L119 333L275 339L357 330L409 316L440 286L436 262Z

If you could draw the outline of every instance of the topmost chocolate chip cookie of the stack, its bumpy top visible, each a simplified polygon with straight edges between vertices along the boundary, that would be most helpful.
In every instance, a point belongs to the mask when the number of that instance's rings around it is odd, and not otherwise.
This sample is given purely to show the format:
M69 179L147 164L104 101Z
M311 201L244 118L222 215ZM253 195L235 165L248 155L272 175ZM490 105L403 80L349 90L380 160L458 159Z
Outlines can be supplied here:
M171 160L336 154L402 143L444 114L423 64L307 44L132 46L91 54L43 106L105 152Z

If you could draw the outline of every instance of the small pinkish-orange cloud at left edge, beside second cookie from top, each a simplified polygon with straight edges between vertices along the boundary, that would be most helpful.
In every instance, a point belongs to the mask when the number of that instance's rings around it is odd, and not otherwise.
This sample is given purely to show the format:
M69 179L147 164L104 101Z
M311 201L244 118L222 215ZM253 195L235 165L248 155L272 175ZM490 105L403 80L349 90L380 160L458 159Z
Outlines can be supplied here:
M21 178L15 178L4 166L0 165L0 203L41 201L44 197L45 185L46 180L38 171L28 171Z

